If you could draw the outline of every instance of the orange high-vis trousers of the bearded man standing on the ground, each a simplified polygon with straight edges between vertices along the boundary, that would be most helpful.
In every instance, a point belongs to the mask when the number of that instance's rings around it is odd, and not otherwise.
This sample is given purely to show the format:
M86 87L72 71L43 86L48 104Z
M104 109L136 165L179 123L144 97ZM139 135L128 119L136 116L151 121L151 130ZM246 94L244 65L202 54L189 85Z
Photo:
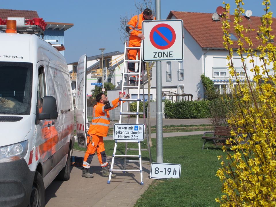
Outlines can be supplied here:
M92 139L91 139L92 138ZM87 150L83 159L83 167L90 168L92 158L97 151L97 156L101 167L108 165L106 162L106 152L104 149L104 139L98 135L87 135Z

